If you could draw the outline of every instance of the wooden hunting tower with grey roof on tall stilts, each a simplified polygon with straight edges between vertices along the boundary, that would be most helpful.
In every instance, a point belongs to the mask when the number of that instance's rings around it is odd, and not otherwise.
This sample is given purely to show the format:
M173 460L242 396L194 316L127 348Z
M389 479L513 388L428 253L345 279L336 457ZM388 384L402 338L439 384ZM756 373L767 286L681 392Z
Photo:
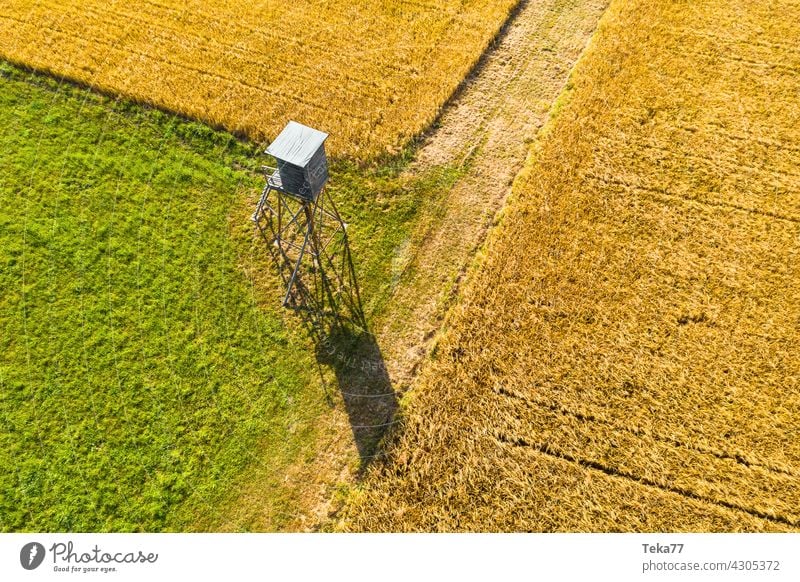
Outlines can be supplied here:
M266 150L277 167L262 168L266 184L252 218L284 278L283 305L339 314L360 298L347 225L325 190L327 138L289 122Z

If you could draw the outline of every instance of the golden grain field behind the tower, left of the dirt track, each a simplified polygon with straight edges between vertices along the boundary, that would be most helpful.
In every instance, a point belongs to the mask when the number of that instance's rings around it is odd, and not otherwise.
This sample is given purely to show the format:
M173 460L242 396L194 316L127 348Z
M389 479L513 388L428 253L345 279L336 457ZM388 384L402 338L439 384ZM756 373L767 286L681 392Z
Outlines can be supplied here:
M337 155L426 128L515 0L11 0L0 55L257 140L289 118Z

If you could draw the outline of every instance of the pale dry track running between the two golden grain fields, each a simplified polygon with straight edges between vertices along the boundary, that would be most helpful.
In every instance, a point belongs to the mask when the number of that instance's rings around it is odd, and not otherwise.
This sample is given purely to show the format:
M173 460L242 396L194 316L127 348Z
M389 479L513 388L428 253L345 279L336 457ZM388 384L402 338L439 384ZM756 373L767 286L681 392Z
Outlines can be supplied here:
M459 282L522 168L606 0L525 2L423 143L411 173L469 164L449 196L426 209L409 241L379 344L398 392L410 388ZM396 314L402 314L397 317Z

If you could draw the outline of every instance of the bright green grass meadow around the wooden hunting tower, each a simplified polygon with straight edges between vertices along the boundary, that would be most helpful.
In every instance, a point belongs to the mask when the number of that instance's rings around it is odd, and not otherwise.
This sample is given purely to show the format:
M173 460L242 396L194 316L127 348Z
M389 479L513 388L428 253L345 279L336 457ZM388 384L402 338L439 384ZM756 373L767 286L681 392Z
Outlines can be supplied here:
M0 149L0 530L220 523L264 463L280 528L278 476L329 407L303 328L241 268L259 148L0 64ZM333 171L370 319L456 177L410 188L403 164Z

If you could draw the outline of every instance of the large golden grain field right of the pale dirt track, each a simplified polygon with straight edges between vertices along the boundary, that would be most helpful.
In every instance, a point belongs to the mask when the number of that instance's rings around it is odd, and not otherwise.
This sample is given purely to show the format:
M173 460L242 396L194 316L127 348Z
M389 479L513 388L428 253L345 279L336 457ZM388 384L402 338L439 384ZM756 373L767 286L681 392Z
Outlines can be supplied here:
M612 2L345 529L800 528L796 38Z

